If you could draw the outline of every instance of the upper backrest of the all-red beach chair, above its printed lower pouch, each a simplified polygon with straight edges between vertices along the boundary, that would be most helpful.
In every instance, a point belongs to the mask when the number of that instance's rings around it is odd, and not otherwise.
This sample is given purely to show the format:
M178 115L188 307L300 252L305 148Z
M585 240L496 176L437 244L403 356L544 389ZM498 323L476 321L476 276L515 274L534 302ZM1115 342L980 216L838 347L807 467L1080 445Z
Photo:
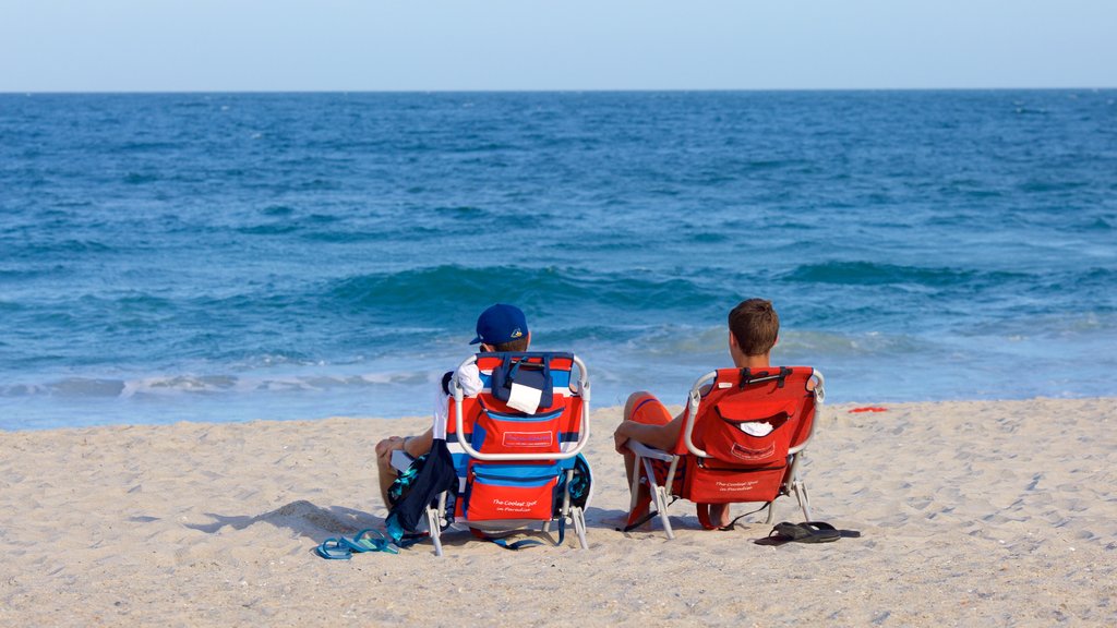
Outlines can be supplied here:
M708 373L691 389L676 453L723 468L783 467L813 434L821 383L809 367Z

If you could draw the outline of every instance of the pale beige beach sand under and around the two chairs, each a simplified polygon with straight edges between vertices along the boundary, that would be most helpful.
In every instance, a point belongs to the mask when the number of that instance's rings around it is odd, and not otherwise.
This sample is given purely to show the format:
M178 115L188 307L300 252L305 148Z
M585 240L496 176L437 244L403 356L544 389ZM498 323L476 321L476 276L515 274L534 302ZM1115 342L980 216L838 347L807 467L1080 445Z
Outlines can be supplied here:
M373 445L423 419L0 432L0 626L1117 625L1117 400L886 407L824 407L806 459L815 518L860 539L758 545L686 502L675 541L617 532L612 408L589 551L457 533L442 559L313 552L382 525Z

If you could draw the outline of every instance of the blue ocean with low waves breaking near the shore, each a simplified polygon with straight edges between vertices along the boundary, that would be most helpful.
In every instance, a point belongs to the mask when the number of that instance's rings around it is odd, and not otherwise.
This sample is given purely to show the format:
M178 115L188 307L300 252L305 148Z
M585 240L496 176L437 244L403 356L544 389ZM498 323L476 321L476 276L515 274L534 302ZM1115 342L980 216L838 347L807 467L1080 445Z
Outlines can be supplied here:
M0 95L0 429L429 415L477 314L681 403L1117 396L1117 91Z

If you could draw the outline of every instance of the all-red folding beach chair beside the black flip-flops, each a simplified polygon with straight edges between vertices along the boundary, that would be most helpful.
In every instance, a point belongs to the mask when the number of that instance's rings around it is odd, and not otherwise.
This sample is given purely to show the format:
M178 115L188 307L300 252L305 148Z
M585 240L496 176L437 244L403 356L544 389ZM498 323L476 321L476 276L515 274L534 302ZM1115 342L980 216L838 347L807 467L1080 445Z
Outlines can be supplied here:
M636 469L626 530L658 515L674 539L667 516L671 497L694 502L706 529L716 527L710 504L763 503L758 510L767 508L772 523L773 502L792 494L804 521L811 521L800 465L823 397L822 373L806 367L722 369L698 378L671 451L629 441ZM641 484L648 485L643 496ZM652 503L655 510L642 515Z

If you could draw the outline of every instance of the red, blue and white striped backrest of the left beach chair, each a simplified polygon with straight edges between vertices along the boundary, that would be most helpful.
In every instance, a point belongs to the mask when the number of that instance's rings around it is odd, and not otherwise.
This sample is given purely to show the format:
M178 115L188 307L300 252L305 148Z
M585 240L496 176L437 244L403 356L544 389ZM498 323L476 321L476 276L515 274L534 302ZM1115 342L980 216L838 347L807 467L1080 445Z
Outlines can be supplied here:
M590 436L585 365L553 352L478 353L462 367L471 361L483 389L466 397L451 383L446 426L459 482L456 516L551 518L556 487Z

